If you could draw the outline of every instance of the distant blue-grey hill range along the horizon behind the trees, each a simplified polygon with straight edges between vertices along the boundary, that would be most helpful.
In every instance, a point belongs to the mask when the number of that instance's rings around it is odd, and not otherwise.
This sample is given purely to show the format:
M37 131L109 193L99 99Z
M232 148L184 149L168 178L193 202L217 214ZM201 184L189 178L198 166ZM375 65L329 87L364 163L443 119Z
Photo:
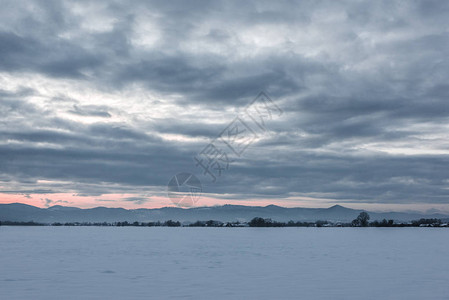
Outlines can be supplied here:
M123 209L95 207L81 209L77 207L52 206L39 208L22 203L0 204L0 221L18 222L117 222L117 221L166 221L195 222L197 220L217 220L222 222L250 221L254 217L271 218L275 221L287 222L327 220L333 222L350 222L362 210L350 209L340 205L329 208L285 208L276 205L243 206L223 205L214 207L163 207L156 209ZM368 212L371 221L393 219L395 221L411 221L420 218L449 219L448 215L421 213L374 213Z

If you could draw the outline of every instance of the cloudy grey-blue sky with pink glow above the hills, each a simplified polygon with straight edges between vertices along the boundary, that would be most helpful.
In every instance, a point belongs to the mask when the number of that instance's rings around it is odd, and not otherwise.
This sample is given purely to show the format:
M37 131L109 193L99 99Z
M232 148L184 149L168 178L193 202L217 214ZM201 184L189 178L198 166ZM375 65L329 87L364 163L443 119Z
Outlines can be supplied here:
M447 1L1 6L0 203L174 206L184 172L195 206L449 211Z

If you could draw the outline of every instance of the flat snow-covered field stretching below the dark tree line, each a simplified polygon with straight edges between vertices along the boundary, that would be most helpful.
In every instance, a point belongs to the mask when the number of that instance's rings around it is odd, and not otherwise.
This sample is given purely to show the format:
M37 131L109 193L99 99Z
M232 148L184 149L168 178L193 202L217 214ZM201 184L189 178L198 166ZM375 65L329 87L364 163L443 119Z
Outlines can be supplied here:
M446 228L0 227L0 299L449 299Z

